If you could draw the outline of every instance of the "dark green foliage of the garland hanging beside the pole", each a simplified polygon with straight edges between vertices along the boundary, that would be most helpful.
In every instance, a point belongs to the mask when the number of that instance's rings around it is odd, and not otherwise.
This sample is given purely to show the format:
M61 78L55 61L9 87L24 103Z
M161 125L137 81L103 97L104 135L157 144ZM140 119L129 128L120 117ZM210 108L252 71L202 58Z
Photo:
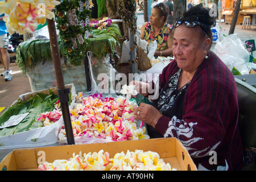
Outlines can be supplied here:
M86 18L91 16L91 11L83 8L79 10L79 2L85 3L86 1L67 1L63 0L60 5L55 7L55 21L57 22L57 29L59 30L59 38L61 39L61 46L63 48L64 56L67 57L69 62L74 66L81 65L82 59L86 56L86 49L89 45L89 39L85 38L86 31L90 30L89 24L84 26ZM78 25L70 25L67 12L75 10L78 19ZM74 20L72 18L72 20ZM83 43L79 43L78 36L81 35ZM74 46L72 39L75 39L77 47Z

